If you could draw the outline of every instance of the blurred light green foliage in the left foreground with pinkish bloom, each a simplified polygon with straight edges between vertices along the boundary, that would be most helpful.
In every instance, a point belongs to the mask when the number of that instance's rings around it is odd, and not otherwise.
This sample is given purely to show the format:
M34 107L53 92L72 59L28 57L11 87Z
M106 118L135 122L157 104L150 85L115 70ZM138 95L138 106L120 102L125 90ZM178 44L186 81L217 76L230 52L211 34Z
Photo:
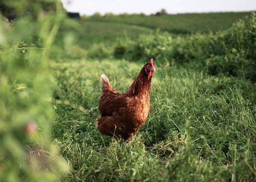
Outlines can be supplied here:
M55 83L48 59L61 9L36 22L0 17L0 181L53 181L67 171L50 130Z

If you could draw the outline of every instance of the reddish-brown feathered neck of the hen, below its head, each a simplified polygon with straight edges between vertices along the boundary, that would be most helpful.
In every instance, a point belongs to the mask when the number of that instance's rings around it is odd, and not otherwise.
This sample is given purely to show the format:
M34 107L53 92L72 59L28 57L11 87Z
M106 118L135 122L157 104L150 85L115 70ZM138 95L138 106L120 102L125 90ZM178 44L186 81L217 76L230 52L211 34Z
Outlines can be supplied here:
M133 81L130 88L125 92L125 95L131 97L138 94L149 94L151 78L149 77L144 70L141 70L137 78Z

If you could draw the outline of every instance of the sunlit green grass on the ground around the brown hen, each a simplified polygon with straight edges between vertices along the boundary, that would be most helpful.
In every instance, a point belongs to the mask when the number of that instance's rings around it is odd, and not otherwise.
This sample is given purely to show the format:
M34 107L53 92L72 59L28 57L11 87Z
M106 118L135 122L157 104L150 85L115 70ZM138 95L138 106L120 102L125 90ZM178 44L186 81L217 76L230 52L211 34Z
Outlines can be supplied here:
M129 144L112 143L94 129L99 77L105 73L124 92L143 63L52 64L59 88L55 98L63 101L55 104L53 133L72 169L62 180L253 181L256 87L240 78L155 63L149 118Z

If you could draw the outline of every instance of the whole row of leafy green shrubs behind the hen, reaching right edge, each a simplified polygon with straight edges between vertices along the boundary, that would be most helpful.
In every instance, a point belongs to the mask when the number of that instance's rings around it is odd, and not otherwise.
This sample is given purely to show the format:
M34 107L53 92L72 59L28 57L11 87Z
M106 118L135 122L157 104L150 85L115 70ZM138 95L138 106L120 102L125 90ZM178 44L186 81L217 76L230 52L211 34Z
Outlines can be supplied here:
M204 65L211 75L225 74L256 78L256 24L251 19L239 20L230 29L213 34L193 34L172 38L168 32L141 35L137 41L127 37L119 39L114 46L116 58L148 60L153 57L175 63L197 63Z

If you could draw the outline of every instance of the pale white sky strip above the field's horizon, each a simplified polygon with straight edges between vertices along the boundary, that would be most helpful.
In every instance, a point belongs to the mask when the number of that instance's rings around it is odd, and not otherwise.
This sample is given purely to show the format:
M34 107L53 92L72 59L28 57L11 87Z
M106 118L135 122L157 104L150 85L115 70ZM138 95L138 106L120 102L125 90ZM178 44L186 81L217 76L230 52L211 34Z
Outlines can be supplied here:
M169 14L192 12L238 12L256 10L256 0L62 0L69 12L152 14L166 9Z

